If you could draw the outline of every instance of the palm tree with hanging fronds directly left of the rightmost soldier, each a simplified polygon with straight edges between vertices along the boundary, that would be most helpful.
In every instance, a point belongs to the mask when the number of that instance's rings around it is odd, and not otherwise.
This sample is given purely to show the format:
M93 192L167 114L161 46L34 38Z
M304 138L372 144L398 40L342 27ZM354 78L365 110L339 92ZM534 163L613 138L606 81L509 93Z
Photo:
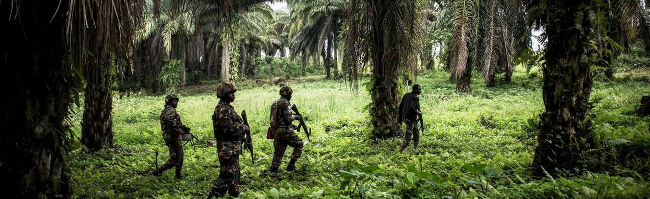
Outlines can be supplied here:
M372 117L376 138L395 136L397 122L398 72L408 65L413 53L411 41L415 34L417 14L413 1L366 0L366 28L372 60Z

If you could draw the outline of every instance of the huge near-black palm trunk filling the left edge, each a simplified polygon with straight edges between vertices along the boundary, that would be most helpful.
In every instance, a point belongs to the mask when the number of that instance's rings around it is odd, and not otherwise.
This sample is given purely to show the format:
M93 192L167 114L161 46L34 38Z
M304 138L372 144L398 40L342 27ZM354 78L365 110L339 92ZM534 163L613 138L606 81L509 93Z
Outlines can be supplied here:
M61 4L59 4L61 3ZM0 3L0 176L7 198L72 198L70 126L75 69L64 60L68 1Z

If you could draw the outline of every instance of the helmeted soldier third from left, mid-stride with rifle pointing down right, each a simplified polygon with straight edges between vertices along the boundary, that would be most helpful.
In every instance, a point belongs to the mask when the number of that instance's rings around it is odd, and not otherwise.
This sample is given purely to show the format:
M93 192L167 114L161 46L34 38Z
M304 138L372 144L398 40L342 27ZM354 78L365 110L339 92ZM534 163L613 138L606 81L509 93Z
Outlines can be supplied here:
M287 145L293 147L293 154L291 160L287 165L287 171L296 169L296 161L302 154L303 142L296 135L294 129L296 127L291 124L291 121L300 120L300 116L291 114L291 94L293 91L289 86L282 86L280 88L280 99L273 102L271 105L271 128L273 134L273 161L269 171L276 173L280 164L282 163L282 156L287 149Z

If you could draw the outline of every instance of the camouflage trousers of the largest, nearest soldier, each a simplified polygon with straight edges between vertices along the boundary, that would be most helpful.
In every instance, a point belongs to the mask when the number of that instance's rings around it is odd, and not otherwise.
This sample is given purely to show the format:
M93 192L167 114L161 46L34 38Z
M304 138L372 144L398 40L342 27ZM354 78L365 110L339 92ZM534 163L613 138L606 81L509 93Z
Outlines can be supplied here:
M219 177L212 185L211 195L222 197L226 192L230 196L239 195L239 182L241 173L239 171L239 154L241 153L241 142L218 142L219 150Z

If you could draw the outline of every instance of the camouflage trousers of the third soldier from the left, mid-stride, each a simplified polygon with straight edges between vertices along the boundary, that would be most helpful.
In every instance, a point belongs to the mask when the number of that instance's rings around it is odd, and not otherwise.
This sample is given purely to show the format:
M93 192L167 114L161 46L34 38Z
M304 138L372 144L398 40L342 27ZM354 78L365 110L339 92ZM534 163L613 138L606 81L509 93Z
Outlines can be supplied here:
M277 171L282 163L282 156L287 146L293 147L291 160L295 161L302 155L303 143L300 137L296 135L293 129L290 128L277 128L273 130L273 161L271 162L271 171Z

